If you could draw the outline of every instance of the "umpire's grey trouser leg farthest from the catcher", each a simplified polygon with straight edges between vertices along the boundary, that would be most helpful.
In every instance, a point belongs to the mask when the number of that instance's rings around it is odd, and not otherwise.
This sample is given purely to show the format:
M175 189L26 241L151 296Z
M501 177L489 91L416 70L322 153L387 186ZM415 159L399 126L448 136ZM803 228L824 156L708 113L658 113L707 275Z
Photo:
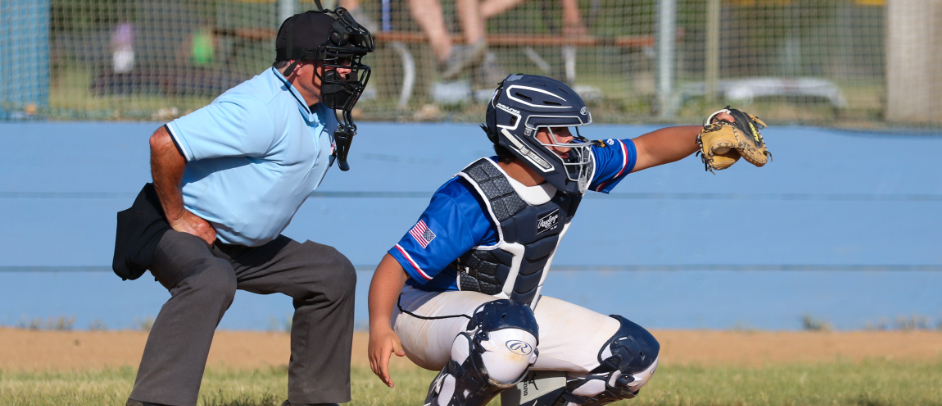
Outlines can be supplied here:
M235 296L235 271L199 237L168 231L157 245L151 274L171 297L147 337L130 398L196 405L213 333Z

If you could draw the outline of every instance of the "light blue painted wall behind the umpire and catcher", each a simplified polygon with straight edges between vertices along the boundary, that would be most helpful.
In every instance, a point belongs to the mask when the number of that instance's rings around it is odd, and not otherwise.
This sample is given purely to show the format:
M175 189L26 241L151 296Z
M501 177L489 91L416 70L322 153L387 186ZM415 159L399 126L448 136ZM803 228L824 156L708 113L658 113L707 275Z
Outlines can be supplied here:
M76 314L112 327L156 315L167 292L108 272L115 213L149 181L157 123L0 123L0 324ZM592 138L651 126L593 125ZM544 290L659 328L839 328L942 312L940 136L805 127L765 131L775 160L713 175L696 157L626 178L579 209ZM337 247L363 269L431 193L492 153L471 124L363 123L349 172L333 169L285 234ZM60 270L73 272L2 272ZM617 272L629 270L633 272ZM264 329L283 297L240 293L221 326ZM123 324L122 324L123 323Z

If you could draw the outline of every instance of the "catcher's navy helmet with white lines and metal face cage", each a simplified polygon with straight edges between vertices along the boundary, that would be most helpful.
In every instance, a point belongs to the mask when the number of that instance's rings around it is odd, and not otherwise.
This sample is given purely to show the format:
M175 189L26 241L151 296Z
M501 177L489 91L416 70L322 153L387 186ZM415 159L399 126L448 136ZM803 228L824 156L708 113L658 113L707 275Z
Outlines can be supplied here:
M498 85L487 106L488 138L563 193L585 193L595 172L589 141L579 126L592 123L585 102L566 84L545 76L514 74ZM553 127L575 127L571 143L556 140ZM550 143L537 139L541 128L549 130ZM568 156L547 147L569 148Z

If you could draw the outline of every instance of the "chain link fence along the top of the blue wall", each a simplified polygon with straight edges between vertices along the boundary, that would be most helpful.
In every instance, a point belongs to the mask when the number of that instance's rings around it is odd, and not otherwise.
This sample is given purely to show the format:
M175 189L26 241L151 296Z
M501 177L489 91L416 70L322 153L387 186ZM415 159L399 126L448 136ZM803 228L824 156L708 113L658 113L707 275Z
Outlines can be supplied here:
M480 121L497 81L522 72L571 84L597 122L693 123L732 104L773 123L942 124L942 0L339 5L377 37L365 59L373 76L359 120ZM280 22L314 5L4 0L0 7L0 119L165 121L271 66Z

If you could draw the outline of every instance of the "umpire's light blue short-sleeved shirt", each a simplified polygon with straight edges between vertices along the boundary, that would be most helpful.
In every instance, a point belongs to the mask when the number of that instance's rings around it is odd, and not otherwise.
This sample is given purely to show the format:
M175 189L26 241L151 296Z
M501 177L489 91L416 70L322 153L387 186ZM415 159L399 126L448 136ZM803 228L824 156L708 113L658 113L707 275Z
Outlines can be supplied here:
M183 205L227 244L259 246L291 222L330 167L337 119L271 68L167 123L183 156Z

